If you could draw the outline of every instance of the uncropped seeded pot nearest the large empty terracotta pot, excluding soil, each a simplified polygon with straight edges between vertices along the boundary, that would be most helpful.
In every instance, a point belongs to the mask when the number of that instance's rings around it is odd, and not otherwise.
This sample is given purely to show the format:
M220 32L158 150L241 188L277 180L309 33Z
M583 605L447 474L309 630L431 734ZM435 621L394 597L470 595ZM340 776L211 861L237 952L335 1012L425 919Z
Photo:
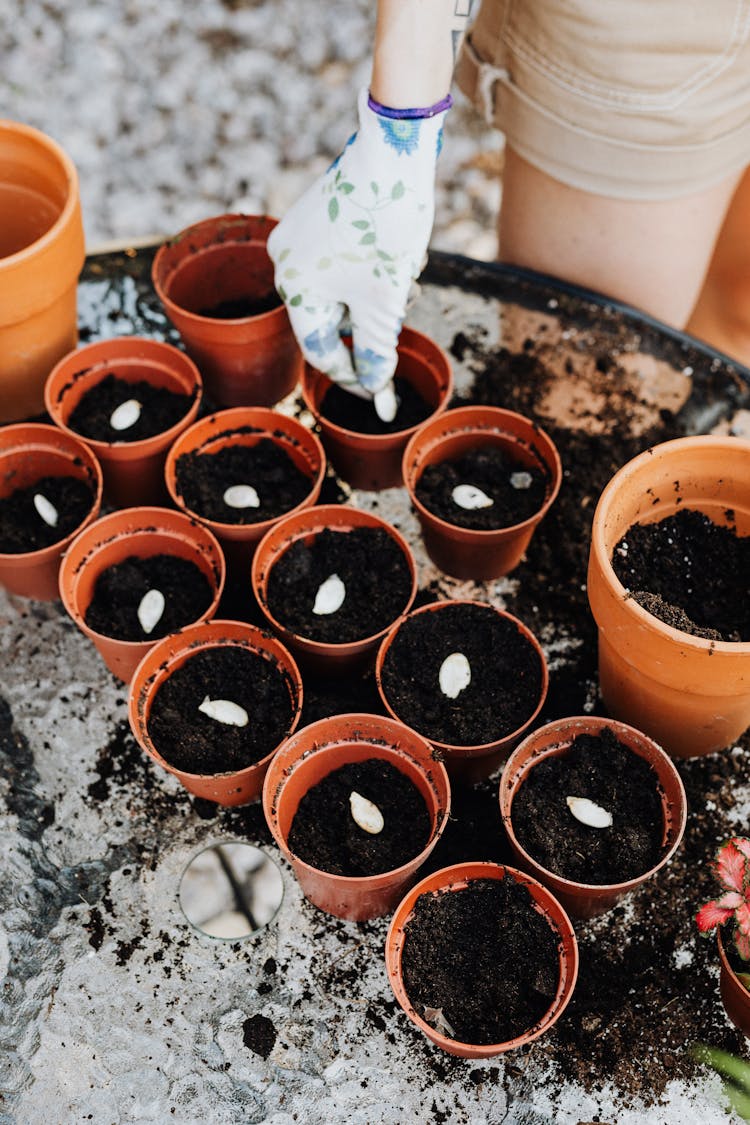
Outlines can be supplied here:
M169 430L142 441L94 441L71 430L67 421L83 395L107 375L126 382L148 381L192 395L184 416ZM97 454L105 475L105 494L116 507L166 500L164 460L177 438L196 418L202 385L196 364L171 344L139 336L102 340L70 352L49 372L44 398L53 422Z

